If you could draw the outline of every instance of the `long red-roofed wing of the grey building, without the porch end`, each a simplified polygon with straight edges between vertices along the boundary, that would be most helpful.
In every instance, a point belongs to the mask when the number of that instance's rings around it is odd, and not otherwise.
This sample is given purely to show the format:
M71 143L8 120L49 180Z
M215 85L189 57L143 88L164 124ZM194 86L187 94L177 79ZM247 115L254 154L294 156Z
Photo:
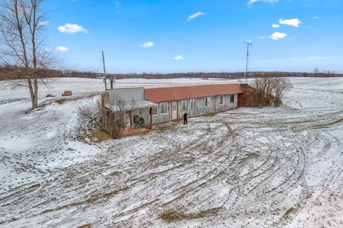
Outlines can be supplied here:
M153 123L164 123L188 116L216 113L237 108L238 95L243 93L237 84L182 86L144 89L145 98L158 107L153 108Z

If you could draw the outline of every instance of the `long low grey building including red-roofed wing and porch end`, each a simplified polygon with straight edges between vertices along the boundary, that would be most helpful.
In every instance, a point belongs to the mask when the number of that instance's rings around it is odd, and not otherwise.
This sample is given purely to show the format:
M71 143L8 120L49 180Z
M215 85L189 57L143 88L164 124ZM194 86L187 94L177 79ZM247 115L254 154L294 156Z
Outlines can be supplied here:
M164 88L115 88L106 90L106 102L120 97L127 105L128 128L151 126L189 117L237 108L239 84L178 86ZM105 102L105 103L106 103Z

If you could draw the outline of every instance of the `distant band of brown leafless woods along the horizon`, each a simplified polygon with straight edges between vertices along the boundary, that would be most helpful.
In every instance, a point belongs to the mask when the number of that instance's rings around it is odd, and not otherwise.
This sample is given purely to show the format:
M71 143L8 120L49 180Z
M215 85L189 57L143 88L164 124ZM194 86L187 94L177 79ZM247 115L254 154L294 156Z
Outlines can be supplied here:
M0 66L0 81L7 80L11 75L12 79L23 79L24 75L18 71L17 66ZM74 70L54 70L44 69L38 73L39 78L101 78L103 73L96 73L94 71L74 71ZM256 71L249 72L249 78L262 78L262 77L342 77L342 73L334 71L322 71L317 69L313 73L308 72L282 72L282 71ZM124 78L146 78L146 79L159 79L159 78L227 78L239 79L244 78L244 72L187 72L187 73L107 73L106 78L124 79Z

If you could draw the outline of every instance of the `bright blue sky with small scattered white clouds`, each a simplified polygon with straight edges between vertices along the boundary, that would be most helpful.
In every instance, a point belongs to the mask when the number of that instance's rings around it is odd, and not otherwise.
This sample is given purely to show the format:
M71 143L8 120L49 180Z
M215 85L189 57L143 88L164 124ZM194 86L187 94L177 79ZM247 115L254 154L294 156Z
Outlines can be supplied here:
M66 68L109 73L343 72L343 0L47 0ZM273 25L274 24L274 25Z

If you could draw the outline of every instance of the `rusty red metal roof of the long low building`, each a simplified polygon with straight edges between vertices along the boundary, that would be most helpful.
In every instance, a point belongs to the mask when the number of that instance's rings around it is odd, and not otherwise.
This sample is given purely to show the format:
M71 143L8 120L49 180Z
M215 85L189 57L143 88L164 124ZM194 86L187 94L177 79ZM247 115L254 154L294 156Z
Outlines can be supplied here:
M154 103L169 100L203 98L212 95L243 93L239 84L218 84L201 86L179 86L165 88L145 88L146 98Z

